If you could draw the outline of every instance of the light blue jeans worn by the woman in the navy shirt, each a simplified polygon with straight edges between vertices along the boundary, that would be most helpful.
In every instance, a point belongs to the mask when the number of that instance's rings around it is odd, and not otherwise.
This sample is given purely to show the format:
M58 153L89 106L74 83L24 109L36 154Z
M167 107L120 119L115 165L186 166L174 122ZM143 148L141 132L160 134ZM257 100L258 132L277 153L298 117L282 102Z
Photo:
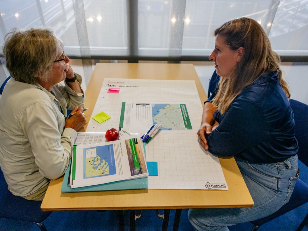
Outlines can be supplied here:
M227 226L269 216L290 200L298 179L297 155L279 163L235 160L253 198L253 207L189 209L188 219L196 230L229 230Z

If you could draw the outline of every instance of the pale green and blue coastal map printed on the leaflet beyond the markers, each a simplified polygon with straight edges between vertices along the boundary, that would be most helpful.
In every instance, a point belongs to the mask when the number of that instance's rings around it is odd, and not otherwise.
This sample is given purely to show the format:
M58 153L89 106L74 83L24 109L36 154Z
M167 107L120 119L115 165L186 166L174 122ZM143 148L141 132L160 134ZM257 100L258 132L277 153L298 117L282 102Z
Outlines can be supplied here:
M177 103L152 103L152 116L153 124L161 124L161 130L185 130Z

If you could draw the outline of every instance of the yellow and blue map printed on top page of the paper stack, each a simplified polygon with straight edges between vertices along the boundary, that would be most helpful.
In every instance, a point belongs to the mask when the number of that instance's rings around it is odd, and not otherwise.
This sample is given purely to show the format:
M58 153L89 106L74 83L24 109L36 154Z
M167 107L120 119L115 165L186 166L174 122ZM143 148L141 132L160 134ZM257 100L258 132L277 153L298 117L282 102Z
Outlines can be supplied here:
M91 155L87 152L91 152ZM94 153L96 152L96 155ZM83 178L115 175L113 145L102 145L83 149Z

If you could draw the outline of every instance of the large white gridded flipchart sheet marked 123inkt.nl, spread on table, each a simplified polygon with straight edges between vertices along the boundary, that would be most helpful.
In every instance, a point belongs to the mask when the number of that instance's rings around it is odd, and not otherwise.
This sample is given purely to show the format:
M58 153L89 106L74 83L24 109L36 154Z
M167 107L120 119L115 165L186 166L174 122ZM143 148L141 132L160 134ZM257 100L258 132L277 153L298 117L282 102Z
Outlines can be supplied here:
M107 93L109 87L119 87L120 91ZM146 160L158 163L158 176L148 176L149 188L228 190L219 159L198 142L202 106L194 81L105 78L91 117L104 111L111 118L101 124L91 118L87 132L117 128L122 102L177 102L188 106L192 130L160 131L146 144ZM129 132L146 131L136 128Z

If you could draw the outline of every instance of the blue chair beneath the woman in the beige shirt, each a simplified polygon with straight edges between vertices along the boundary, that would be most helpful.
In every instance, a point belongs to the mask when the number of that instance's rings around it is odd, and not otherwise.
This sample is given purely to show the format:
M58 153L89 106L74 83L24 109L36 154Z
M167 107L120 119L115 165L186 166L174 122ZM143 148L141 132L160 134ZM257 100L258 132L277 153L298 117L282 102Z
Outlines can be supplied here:
M42 201L29 201L14 196L8 189L3 173L0 170L0 217L18 221L29 221L46 230L43 221L51 212L41 210Z

